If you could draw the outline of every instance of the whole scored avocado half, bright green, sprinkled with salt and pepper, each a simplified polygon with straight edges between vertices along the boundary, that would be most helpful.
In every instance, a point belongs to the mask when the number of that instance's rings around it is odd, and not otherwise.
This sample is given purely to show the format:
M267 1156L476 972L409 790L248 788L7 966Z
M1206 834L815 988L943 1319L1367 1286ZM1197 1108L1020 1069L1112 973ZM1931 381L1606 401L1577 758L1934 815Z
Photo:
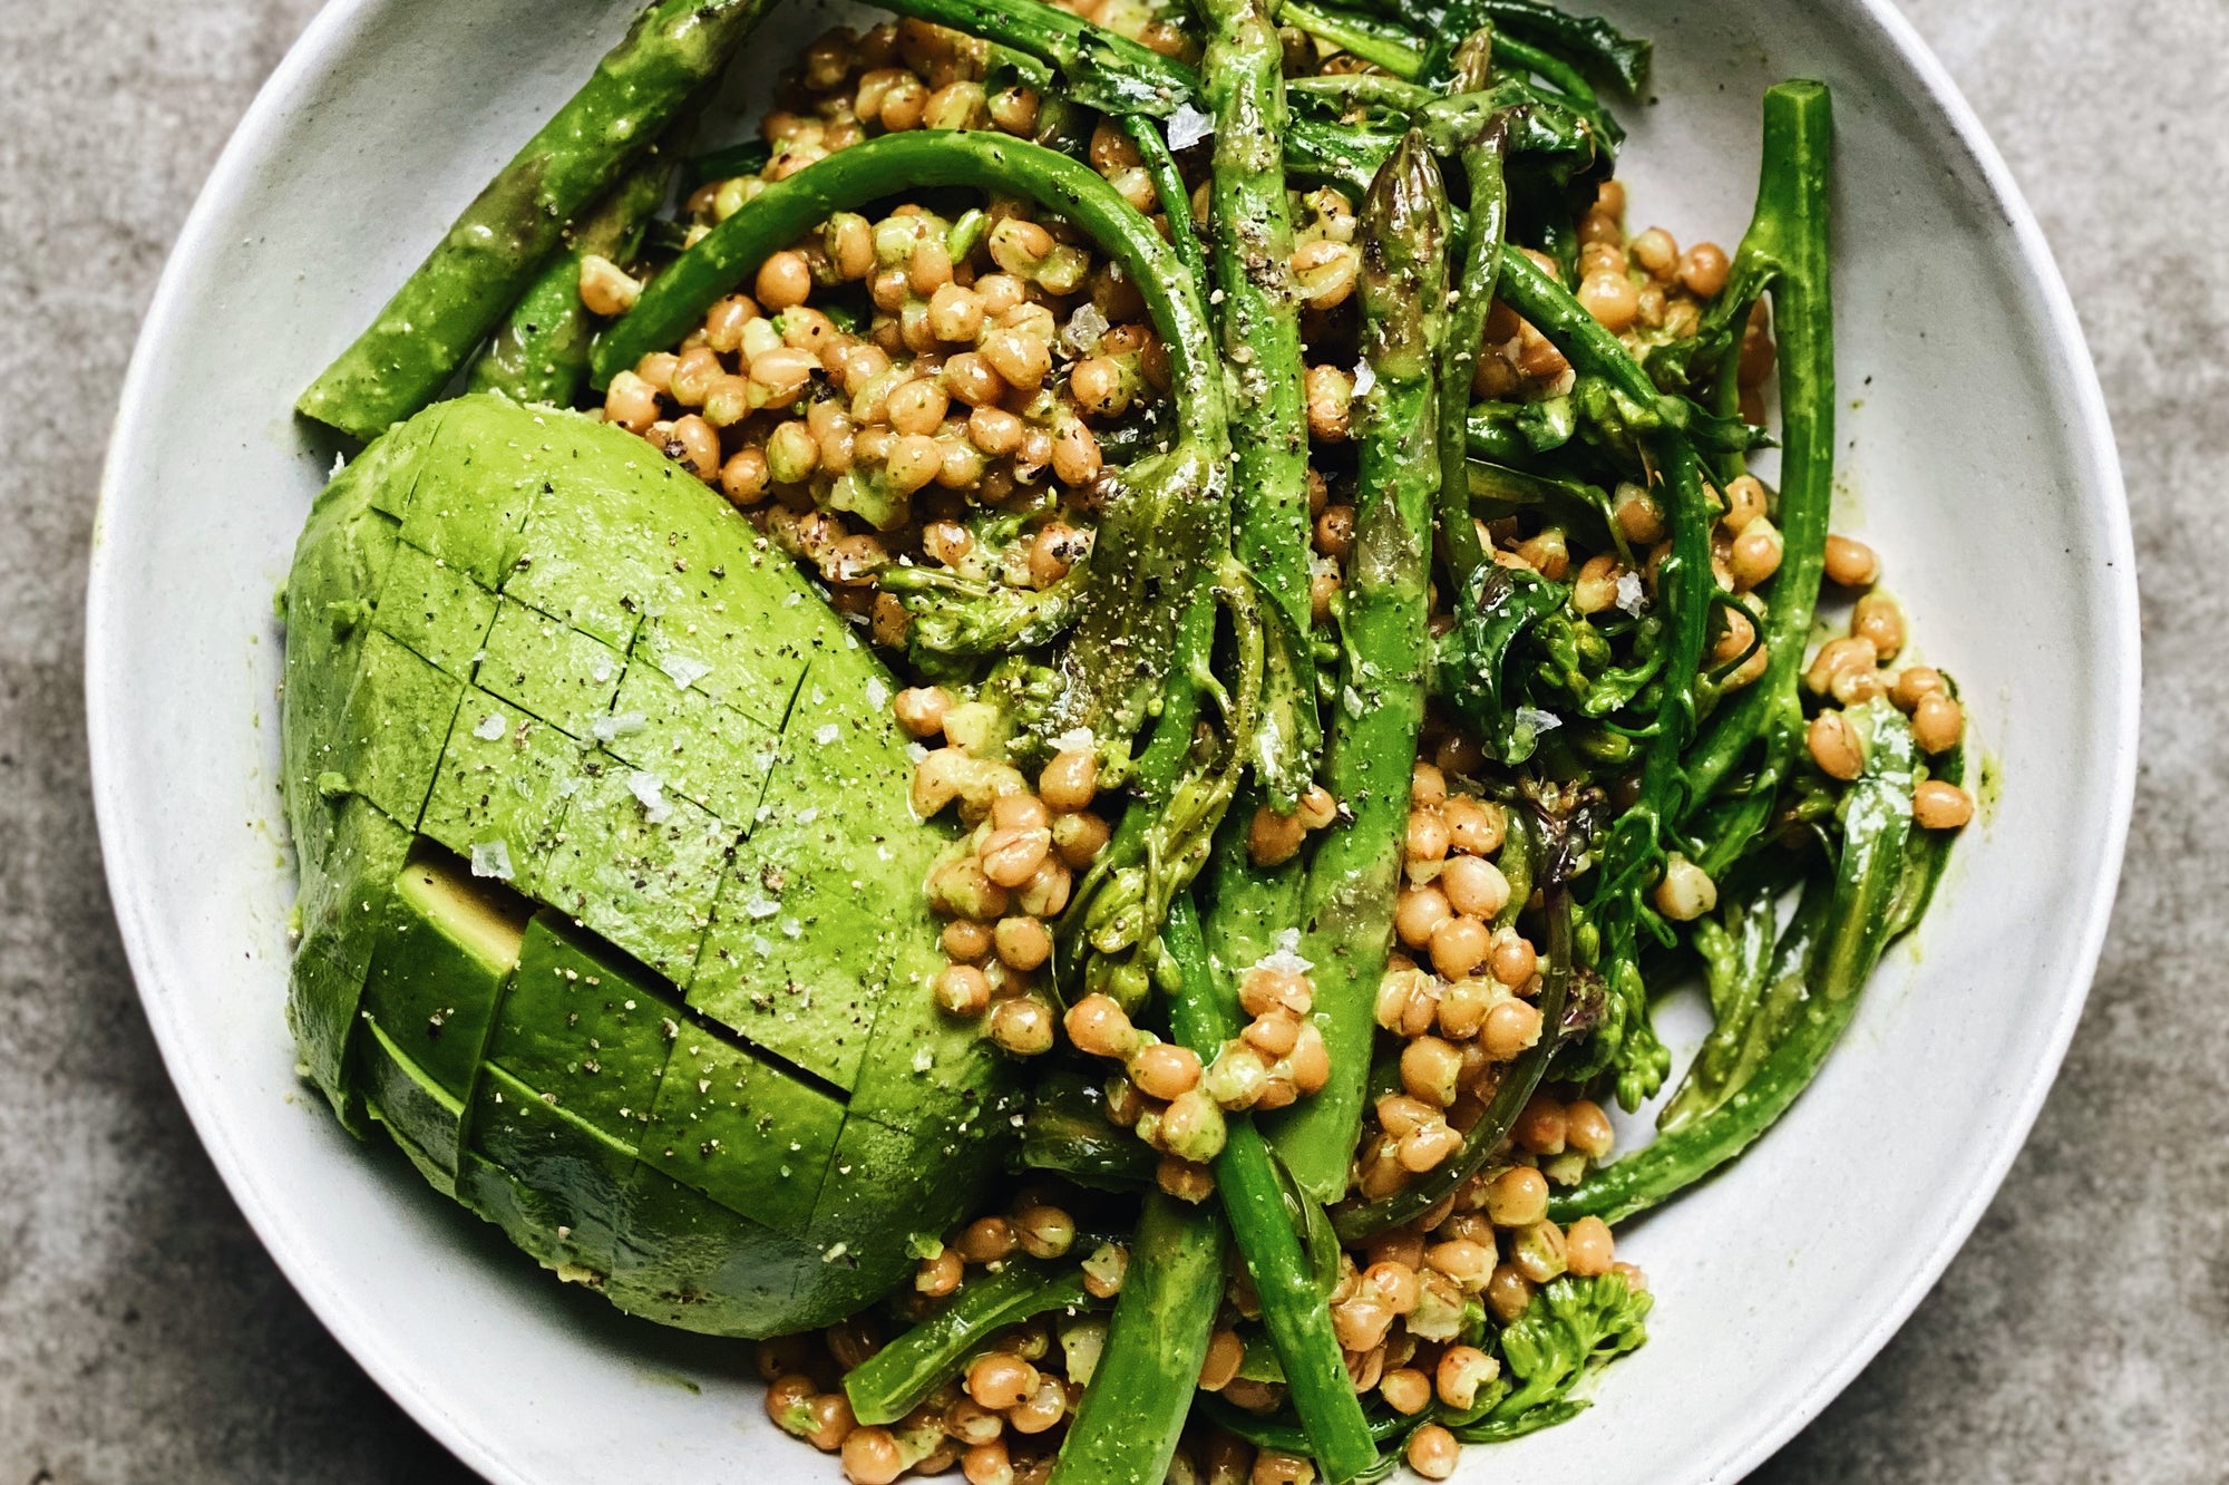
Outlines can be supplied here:
M720 495L475 395L288 580L288 1021L352 1130L651 1320L773 1336L912 1269L1010 1133L943 1017L896 682Z

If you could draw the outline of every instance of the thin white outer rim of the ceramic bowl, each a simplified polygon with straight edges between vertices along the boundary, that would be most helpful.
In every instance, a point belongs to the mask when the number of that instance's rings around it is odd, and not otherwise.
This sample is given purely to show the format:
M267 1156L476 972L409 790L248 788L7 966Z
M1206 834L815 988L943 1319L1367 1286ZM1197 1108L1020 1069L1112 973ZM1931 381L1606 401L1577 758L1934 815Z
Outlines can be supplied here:
M109 622L114 609L111 593L132 582L132 573L116 560L114 544L103 542L103 531L114 508L125 499L129 466L134 462L132 450L145 446L154 433L147 426L149 415L145 408L149 381L156 375L154 348L172 339L174 321L183 312L185 265L216 245L218 223L230 214L230 207L247 185L247 176L272 145L274 125L321 80L332 54L357 36L381 2L334 0L310 20L288 49L285 58L241 116L216 165L210 169L201 194L194 198L194 207L165 259L147 317L140 323L103 464L85 595L85 716L91 794L109 899L147 1021L154 1028L156 1046L178 1090L178 1099L185 1104L187 1117L203 1148L210 1153L218 1177L239 1204L241 1215L247 1217L265 1251L319 1322L403 1411L481 1476L528 1485L528 1476L504 1458L499 1443L488 1438L475 1418L461 1416L444 1398L430 1394L406 1358L381 1347L379 1327L363 1309L361 1295L345 1282L332 1282L312 1244L296 1242L296 1233L281 1204L270 1200L272 1193L254 1177L256 1162L252 1151L234 1139L234 1130L227 1128L214 1110L212 1099L205 1097L203 1070L194 1066L192 1055L185 1050L187 1041L181 1030L187 1019L187 997L174 990L158 972L154 930L145 910L152 887L134 874L129 865L132 856L123 850L129 829L116 780L127 769L123 738L129 731L129 711L120 702L111 705L109 691L103 685L111 671L111 656L127 642L118 624ZM2028 276L2035 308L2042 312L2040 319L2060 352L2057 370L2066 375L2064 392L2077 410L2077 428L2073 433L2082 453L2082 468L2075 473L2093 513L2102 517L2100 537L2104 542L2102 555L2106 557L2106 575L2100 578L2100 589L2104 591L2102 615L2106 620L2102 649L2115 660L2115 680L2100 689L2111 691L2109 700L2118 722L2109 758L2109 821L2104 838L2097 841L2102 847L2095 852L2097 872L2080 908L2077 952L2064 977L2077 990L2057 997L2060 1003L2044 1055L2035 1059L2026 1070L2026 1081L2006 1101L2008 1117L1997 1135L1997 1146L1982 1166L1979 1180L1973 1182L1964 1200L1950 1211L1935 1244L1908 1269L1906 1282L1877 1311L1872 1322L1859 1329L1837 1356L1823 1358L1812 1382L1788 1407L1770 1409L1745 1436L1727 1438L1727 1443L1698 1460L1701 1474L1694 1478L1703 1481L1739 1481L1817 1418L1904 1327L1982 1220L2013 1159L2026 1146L2028 1130L2042 1113L2044 1097L2051 1093L2089 999L2097 959L2104 950L2135 800L2142 696L2135 546L2104 390L2075 317L2073 299L2051 256L2035 212L2013 181L1995 143L1990 143L1982 120L1928 42L1895 9L1892 0L1848 0L1848 4L1852 20L1872 27L1877 40L1886 42L1888 51L1910 69L1919 82L1915 103L1930 107L1937 123L1946 125L1948 138L1966 152L1988 196L2004 212L2017 250L2017 268Z

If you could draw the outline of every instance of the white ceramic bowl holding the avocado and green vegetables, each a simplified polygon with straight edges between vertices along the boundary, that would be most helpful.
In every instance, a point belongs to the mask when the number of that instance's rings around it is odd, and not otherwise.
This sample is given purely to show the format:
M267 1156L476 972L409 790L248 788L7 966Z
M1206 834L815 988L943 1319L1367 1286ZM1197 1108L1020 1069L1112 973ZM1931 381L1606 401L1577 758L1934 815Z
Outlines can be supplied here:
M2135 774L2138 622L2111 430L2044 241L1881 0L1607 4L1656 38L1627 107L1636 225L1732 243L1756 98L1837 89L1846 504L2002 796L1917 950L1730 1175L1629 1229L1652 1340L1598 1407L1462 1478L1730 1481L1888 1340L2051 1086L2104 934ZM624 1320L350 1142L281 1023L288 571L332 444L294 392L624 25L613 0L337 0L216 165L140 337L94 549L100 838L147 1017L218 1171L363 1367L497 1481L831 1481L771 1434L749 1347ZM825 22L791 7L756 56ZM1690 1019L1687 1030L1694 1030Z

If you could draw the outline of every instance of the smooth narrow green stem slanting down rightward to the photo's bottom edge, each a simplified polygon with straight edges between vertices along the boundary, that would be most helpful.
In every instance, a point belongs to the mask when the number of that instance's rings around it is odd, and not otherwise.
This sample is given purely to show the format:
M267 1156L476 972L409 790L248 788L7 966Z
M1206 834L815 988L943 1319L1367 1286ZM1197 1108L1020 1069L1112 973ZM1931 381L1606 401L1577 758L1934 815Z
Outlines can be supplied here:
M1164 939L1170 1030L1204 1061L1213 1059L1239 1030L1237 999L1217 983L1190 896L1170 908ZM1331 1485L1364 1476L1378 1465L1378 1445L1346 1376L1340 1338L1331 1329L1328 1295L1317 1289L1293 1226L1277 1157L1253 1115L1230 1115L1224 1153L1215 1157L1215 1193L1262 1300L1262 1324L1277 1349L1293 1411L1308 1431L1315 1463Z

